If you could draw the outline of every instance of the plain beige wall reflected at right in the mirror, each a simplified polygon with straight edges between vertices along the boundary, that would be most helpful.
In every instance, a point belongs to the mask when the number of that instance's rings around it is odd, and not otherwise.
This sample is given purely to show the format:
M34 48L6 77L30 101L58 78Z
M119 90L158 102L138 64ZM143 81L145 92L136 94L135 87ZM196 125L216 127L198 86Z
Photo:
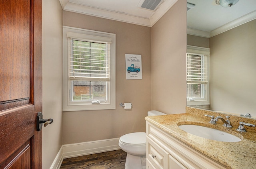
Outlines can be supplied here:
M210 106L256 116L256 20L210 38Z

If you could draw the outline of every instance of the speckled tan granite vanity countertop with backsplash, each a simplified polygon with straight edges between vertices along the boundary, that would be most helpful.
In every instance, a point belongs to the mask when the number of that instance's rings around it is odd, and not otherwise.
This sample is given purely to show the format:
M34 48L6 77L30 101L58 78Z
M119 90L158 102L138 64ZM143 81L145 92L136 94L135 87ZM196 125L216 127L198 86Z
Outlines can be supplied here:
M233 128L222 126L219 120L217 124L210 124L210 118L204 114L222 116L226 114L216 113L196 108L186 108L185 114L170 114L162 116L148 116L146 121L167 132L174 138L186 143L190 147L203 153L204 155L218 161L228 169L255 169L256 168L256 130L245 126L248 132L238 132L239 121L256 124L255 119L242 118L230 115L230 122ZM215 128L233 134L242 139L239 142L222 142L208 140L181 130L178 126L182 124L194 124Z

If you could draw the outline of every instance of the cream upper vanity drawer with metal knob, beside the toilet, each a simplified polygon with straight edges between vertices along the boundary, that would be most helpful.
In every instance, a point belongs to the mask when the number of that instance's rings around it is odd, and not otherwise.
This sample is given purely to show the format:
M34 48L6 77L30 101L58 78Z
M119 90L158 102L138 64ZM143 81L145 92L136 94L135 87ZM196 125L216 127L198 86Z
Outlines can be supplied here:
M168 152L147 136L147 159L156 169L168 169Z

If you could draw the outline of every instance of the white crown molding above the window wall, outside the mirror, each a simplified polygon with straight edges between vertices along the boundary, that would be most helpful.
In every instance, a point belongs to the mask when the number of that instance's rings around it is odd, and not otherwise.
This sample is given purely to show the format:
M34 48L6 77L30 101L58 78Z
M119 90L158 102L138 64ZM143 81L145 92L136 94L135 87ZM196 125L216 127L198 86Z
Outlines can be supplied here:
M64 11L76 12L80 14L106 18L130 24L152 27L178 0L164 0L158 9L153 12L149 18L140 16L132 16L130 14L105 9L93 8L76 4L70 0L60 0L60 4Z

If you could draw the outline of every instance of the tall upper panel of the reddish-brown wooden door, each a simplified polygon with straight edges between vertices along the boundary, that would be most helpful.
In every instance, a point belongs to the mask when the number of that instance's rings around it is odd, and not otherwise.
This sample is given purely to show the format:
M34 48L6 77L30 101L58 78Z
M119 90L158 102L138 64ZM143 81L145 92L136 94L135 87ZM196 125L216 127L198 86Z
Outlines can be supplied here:
M30 97L30 0L1 0L0 102ZM4 10L2 10L4 9Z

